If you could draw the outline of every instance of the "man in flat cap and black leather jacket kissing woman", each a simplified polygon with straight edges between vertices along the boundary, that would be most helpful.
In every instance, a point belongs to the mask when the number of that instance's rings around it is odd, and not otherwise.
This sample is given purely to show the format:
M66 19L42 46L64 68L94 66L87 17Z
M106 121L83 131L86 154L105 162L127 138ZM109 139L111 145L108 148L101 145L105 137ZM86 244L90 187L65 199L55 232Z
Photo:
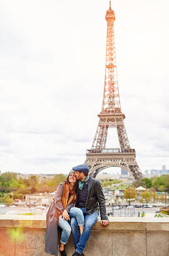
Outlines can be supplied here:
M101 224L106 226L109 220L101 182L89 175L89 166L86 164L80 164L72 169L75 171L76 178L79 179L75 206L82 210L85 217L85 226L81 236L76 218L72 217L71 219L72 238L76 250L72 256L84 256L83 250L91 229L98 219L99 210Z

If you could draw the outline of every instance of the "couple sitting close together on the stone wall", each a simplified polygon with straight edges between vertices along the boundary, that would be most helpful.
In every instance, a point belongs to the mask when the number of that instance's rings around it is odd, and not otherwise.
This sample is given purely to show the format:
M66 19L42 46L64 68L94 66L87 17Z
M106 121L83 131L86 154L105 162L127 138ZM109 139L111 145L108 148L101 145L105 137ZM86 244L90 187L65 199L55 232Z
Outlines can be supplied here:
M57 187L55 198L47 212L47 253L57 256L59 251L60 256L67 256L64 246L72 230L75 245L75 253L72 256L84 256L83 250L98 219L99 210L101 224L106 226L109 223L102 184L88 173L88 165L75 166L65 182ZM59 246L58 227L62 229Z

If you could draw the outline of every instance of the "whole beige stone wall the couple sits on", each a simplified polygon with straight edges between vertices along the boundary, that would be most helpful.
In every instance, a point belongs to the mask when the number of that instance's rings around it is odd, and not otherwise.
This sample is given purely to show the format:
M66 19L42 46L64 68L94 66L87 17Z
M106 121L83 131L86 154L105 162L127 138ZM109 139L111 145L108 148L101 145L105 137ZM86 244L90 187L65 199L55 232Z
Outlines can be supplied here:
M0 256L49 256L45 253L45 216L0 215ZM72 237L67 256L75 249ZM110 218L94 224L85 256L168 256L169 218Z

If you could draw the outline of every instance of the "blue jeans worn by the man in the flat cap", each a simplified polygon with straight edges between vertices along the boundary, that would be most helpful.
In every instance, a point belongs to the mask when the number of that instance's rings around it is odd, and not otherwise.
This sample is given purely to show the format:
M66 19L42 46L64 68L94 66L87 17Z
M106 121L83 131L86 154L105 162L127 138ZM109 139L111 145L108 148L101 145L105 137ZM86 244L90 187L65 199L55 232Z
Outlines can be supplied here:
M80 209L82 210L83 215L85 217L85 226L84 226L82 235L80 236L76 218L71 219L71 228L72 228L72 238L75 245L75 249L78 253L81 254L82 251L85 249L85 245L87 243L87 240L89 239L91 229L94 223L97 221L99 213L94 212L92 215L89 215L87 212L85 212L85 208L80 208Z

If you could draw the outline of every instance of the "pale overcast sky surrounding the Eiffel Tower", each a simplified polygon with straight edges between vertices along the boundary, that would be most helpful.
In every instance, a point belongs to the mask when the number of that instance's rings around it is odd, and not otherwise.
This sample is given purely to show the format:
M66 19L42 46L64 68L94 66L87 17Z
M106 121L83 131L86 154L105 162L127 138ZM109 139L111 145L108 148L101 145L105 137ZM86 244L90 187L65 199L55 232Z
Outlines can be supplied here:
M0 1L1 172L67 173L101 110L108 0ZM124 125L140 169L169 169L169 1L114 0ZM107 147L118 146L109 129ZM108 171L108 169L107 169Z

